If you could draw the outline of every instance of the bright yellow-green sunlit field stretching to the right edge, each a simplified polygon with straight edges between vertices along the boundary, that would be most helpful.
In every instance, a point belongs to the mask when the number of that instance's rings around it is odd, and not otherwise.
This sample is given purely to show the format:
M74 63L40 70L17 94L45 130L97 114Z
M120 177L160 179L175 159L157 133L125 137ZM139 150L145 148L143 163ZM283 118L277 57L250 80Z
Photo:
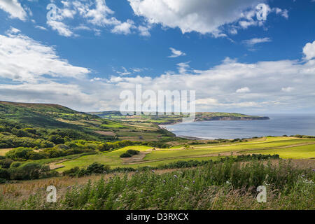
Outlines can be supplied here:
M160 149L148 146L128 146L116 151L85 155L80 158L62 162L64 167L57 169L62 172L73 167L87 167L93 162L99 162L111 167L156 167L179 160L216 160L218 156L239 154L279 154L281 158L309 159L315 158L315 139L297 139L294 137L265 137L253 141L227 144L190 145L190 148L176 146ZM140 151L142 157L134 161L126 161L120 155L129 149Z

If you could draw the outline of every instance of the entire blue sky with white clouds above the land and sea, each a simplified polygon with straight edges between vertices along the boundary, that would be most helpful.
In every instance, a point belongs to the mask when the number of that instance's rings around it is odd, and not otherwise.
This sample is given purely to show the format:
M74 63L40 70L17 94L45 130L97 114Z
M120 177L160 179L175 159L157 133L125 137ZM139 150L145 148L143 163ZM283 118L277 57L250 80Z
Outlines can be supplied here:
M314 25L314 0L0 0L0 100L110 111L142 85L314 113Z

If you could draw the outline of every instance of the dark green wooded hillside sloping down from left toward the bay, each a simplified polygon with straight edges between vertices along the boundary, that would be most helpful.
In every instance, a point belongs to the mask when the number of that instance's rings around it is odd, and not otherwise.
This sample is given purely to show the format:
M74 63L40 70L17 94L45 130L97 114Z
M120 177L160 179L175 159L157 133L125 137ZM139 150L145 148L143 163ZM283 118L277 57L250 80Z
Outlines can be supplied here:
M57 104L3 101L0 102L0 127L2 130L16 128L21 132L25 128L45 129L48 133L67 129L77 132L78 139L86 140L157 141L162 137L173 136L170 132L160 130L158 125L123 124L120 121L107 120ZM25 133L18 137L28 137L28 135Z

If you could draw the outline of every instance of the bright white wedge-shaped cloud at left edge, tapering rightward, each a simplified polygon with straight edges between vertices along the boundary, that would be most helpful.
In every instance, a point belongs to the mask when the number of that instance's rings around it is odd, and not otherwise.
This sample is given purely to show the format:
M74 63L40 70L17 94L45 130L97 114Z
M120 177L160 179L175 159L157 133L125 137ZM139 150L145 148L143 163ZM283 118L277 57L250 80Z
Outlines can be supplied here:
M89 69L60 59L55 49L23 34L0 35L0 77L37 82L44 75L82 78Z

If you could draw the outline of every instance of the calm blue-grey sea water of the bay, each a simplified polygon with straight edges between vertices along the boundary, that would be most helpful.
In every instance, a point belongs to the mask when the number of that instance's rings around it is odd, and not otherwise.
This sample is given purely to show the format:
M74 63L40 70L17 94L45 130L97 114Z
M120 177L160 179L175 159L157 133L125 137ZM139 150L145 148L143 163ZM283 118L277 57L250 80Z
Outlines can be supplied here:
M251 137L311 135L315 136L315 114L264 115L270 120L215 120L165 125L176 136L202 139L243 139Z

